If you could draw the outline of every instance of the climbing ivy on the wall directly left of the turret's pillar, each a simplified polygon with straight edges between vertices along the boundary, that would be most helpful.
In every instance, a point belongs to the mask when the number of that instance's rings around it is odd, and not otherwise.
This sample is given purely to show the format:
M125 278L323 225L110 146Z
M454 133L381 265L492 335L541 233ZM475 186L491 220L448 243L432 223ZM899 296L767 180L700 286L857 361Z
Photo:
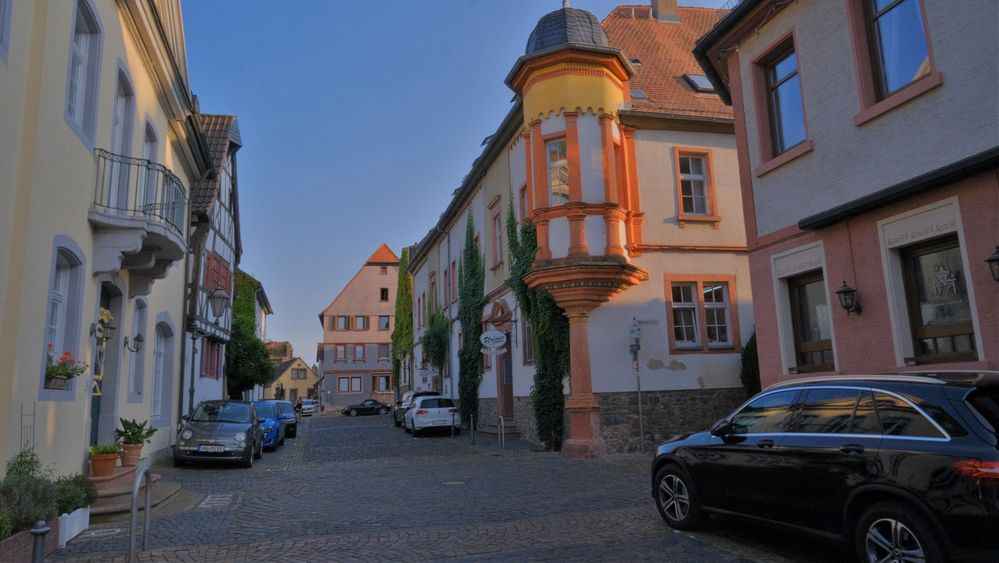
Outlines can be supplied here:
M517 229L513 198L507 207L506 232L510 246L510 279L521 314L534 331L534 387L531 403L538 425L538 440L548 450L562 447L565 393L562 378L569 373L569 321L544 289L530 288L524 276L531 271L538 249L534 224L527 221Z

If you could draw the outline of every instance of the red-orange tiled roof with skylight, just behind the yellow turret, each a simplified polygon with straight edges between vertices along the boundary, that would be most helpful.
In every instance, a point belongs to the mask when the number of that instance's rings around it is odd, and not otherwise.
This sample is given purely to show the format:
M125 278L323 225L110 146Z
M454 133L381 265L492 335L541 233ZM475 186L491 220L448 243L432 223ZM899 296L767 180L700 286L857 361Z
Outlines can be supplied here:
M628 5L614 8L604 18L604 32L611 45L632 60L637 72L631 87L640 88L648 96L646 100L632 100L636 110L732 119L732 108L721 98L694 92L683 78L684 74L704 74L691 51L698 38L726 13L680 7L680 21L667 22L653 18L648 5Z

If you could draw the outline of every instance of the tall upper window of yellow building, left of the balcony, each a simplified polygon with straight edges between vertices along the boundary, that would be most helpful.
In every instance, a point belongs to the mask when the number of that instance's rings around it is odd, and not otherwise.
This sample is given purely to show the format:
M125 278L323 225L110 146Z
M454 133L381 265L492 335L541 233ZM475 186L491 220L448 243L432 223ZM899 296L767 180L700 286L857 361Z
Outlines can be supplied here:
M97 116L97 74L101 31L87 0L77 0L70 37L66 81L66 121L88 144L93 143Z

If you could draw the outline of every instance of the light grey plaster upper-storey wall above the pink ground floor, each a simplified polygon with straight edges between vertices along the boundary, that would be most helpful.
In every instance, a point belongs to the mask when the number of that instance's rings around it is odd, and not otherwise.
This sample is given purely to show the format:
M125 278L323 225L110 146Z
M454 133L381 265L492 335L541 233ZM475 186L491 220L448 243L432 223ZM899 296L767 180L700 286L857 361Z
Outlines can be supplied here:
M862 107L844 2L791 3L742 38L732 56L743 85L736 102L746 108L750 168L761 164L752 61L791 31L807 138L814 142L812 152L752 176L759 235L996 146L999 4L921 5L943 84L859 126L853 122Z

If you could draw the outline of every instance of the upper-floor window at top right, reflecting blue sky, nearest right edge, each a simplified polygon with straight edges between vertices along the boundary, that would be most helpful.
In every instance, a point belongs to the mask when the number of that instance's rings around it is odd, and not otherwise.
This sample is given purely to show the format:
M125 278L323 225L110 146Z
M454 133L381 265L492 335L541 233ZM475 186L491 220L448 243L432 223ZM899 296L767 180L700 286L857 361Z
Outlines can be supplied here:
M919 0L868 0L866 16L879 100L930 74Z

